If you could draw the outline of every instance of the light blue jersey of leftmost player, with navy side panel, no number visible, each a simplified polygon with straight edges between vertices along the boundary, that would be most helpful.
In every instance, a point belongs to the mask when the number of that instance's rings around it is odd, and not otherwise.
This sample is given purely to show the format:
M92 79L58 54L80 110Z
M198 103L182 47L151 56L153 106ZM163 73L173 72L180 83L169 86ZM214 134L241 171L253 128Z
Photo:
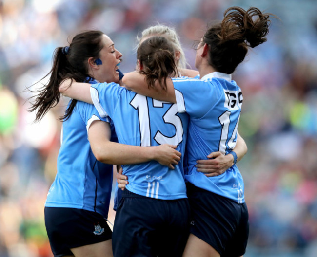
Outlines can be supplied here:
M57 174L45 206L78 208L108 216L113 165L97 161L91 150L87 132L94 120L111 122L100 118L93 105L78 101L69 119L63 122ZM111 141L116 141L111 127Z

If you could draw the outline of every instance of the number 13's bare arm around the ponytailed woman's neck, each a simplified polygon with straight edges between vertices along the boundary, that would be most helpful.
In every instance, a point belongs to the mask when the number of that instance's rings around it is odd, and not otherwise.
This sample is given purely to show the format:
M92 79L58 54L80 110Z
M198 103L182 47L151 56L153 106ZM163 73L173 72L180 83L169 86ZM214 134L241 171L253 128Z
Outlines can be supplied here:
M93 104L90 95L90 85L89 83L79 83L68 78L60 83L59 92L64 96Z

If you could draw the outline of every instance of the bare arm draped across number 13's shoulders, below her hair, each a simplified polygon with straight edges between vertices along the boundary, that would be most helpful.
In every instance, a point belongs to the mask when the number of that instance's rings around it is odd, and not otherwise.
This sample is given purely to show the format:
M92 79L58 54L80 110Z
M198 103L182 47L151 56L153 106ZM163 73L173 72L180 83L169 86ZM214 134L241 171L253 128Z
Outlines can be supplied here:
M122 78L122 82L125 87L131 91L137 92L142 95L152 97L160 101L166 101L170 103L176 103L175 91L172 79L166 79L167 90L161 89L158 81L156 81L156 87L149 87L145 81L145 75L138 72L125 73Z

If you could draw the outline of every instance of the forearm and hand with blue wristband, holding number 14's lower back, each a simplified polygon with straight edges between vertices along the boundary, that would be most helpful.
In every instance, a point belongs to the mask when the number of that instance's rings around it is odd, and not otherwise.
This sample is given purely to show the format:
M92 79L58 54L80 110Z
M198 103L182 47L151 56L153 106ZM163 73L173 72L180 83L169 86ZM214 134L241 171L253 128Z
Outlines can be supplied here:
M237 162L240 161L248 151L248 147L239 133L233 151L237 154ZM207 158L209 158L209 160L198 160L196 165L197 171L205 173L207 177L221 175L234 164L234 156L232 154L224 155L220 152L212 152Z

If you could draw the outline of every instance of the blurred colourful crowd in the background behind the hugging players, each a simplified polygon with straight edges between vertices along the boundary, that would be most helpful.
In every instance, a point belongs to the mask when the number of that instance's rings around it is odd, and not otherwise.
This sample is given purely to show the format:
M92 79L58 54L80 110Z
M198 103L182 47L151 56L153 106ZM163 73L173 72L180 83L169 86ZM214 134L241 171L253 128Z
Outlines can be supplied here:
M315 0L0 0L0 257L51 257L43 218L67 99L33 123L27 99L58 46L86 29L108 34L135 68L140 32L176 28L189 67L193 43L230 6L276 14L268 41L233 78L243 92L250 238L245 257L317 256L317 2ZM45 78L42 80L45 82ZM114 212L109 220L114 219Z

